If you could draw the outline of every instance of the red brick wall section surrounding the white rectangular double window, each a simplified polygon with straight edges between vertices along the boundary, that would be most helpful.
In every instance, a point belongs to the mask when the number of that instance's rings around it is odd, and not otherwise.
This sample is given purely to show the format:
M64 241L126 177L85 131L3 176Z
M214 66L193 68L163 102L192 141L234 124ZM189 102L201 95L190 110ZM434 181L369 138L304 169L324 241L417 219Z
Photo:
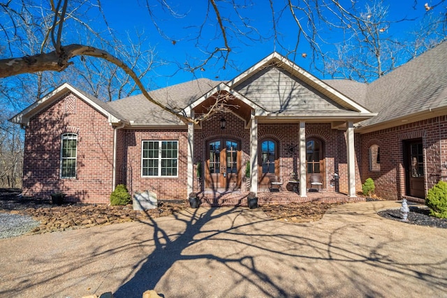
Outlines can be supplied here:
M120 177L127 181L129 192L153 191L159 200L187 198L187 153L188 133L185 129L125 129L124 164L126 168ZM141 145L142 140L178 141L178 177L142 177Z

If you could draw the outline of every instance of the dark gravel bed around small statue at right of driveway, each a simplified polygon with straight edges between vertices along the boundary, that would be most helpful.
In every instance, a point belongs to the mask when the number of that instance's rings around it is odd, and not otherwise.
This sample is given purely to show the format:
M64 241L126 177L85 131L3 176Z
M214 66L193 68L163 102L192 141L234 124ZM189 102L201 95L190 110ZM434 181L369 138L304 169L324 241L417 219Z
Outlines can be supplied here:
M427 207L409 206L409 209L408 221L406 221L406 223L447 229L447 218L430 216L430 210ZM402 213L400 212L400 209L388 209L380 211L378 214L384 218L392 219L393 221L402 221Z

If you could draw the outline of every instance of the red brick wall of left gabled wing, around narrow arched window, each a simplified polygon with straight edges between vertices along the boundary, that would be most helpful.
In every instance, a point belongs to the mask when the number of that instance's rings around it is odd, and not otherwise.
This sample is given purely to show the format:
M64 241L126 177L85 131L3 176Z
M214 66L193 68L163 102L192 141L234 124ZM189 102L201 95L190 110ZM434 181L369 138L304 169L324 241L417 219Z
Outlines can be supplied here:
M78 134L77 175L60 179L61 134ZM24 195L109 202L112 191L113 128L83 100L67 94L31 118L25 131Z

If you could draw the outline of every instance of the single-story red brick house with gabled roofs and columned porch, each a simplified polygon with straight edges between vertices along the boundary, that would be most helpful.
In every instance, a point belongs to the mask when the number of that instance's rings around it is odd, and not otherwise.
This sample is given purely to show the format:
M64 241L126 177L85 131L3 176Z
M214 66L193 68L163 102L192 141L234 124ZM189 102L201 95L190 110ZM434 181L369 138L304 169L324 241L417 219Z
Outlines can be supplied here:
M159 199L288 202L356 198L372 177L383 198L422 199L447 177L446 57L444 42L362 84L319 80L273 53L228 82L150 92L189 117L226 100L200 125L142 95L104 103L63 84L10 119L25 129L24 195L106 203L126 184Z

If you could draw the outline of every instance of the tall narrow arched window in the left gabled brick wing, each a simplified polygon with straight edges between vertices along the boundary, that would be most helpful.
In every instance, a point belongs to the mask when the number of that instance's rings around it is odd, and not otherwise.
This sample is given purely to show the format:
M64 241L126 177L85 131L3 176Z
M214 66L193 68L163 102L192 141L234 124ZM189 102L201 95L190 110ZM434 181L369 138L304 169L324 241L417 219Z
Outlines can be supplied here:
M64 133L61 137L61 178L76 178L78 135Z

